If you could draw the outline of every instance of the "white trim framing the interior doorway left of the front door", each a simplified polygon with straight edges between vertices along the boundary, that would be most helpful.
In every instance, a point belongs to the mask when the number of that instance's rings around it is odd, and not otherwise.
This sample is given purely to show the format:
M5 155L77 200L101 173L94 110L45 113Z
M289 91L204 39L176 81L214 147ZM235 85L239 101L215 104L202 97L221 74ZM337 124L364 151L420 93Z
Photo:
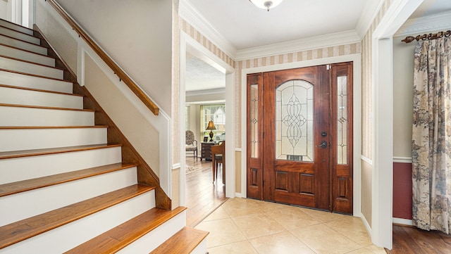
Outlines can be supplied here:
M202 61L209 63L226 75L226 130L227 139L232 142L226 142L226 160L228 170L226 170L226 197L235 197L235 69L224 62L221 58L199 44L190 35L180 30L180 77L179 77L179 142L180 142L180 205L186 205L186 178L185 178L185 71L186 71L186 52L192 53Z

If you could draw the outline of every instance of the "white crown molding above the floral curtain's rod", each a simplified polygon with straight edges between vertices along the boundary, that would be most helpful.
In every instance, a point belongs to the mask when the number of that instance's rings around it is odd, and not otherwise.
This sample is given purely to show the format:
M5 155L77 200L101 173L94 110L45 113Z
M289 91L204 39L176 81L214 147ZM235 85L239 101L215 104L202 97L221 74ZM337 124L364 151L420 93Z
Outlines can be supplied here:
M393 35L402 37L422 32L439 32L451 28L451 11L445 11L434 15L407 20Z

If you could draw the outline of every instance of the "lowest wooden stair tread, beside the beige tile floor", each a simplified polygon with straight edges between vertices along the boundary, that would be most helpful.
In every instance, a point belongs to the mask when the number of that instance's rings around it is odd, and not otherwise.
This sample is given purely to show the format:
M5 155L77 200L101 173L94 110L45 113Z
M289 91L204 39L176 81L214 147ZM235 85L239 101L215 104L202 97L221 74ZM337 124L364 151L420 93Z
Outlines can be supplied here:
M209 232L192 227L184 227L170 239L162 243L158 248L153 250L151 254L189 254L202 242Z

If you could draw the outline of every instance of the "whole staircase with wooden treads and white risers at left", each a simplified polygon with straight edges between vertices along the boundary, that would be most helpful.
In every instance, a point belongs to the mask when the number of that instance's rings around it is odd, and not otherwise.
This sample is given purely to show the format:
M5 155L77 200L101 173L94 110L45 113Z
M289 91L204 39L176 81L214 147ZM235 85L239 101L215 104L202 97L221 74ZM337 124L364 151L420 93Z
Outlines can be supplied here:
M206 253L34 34L0 20L0 253Z

